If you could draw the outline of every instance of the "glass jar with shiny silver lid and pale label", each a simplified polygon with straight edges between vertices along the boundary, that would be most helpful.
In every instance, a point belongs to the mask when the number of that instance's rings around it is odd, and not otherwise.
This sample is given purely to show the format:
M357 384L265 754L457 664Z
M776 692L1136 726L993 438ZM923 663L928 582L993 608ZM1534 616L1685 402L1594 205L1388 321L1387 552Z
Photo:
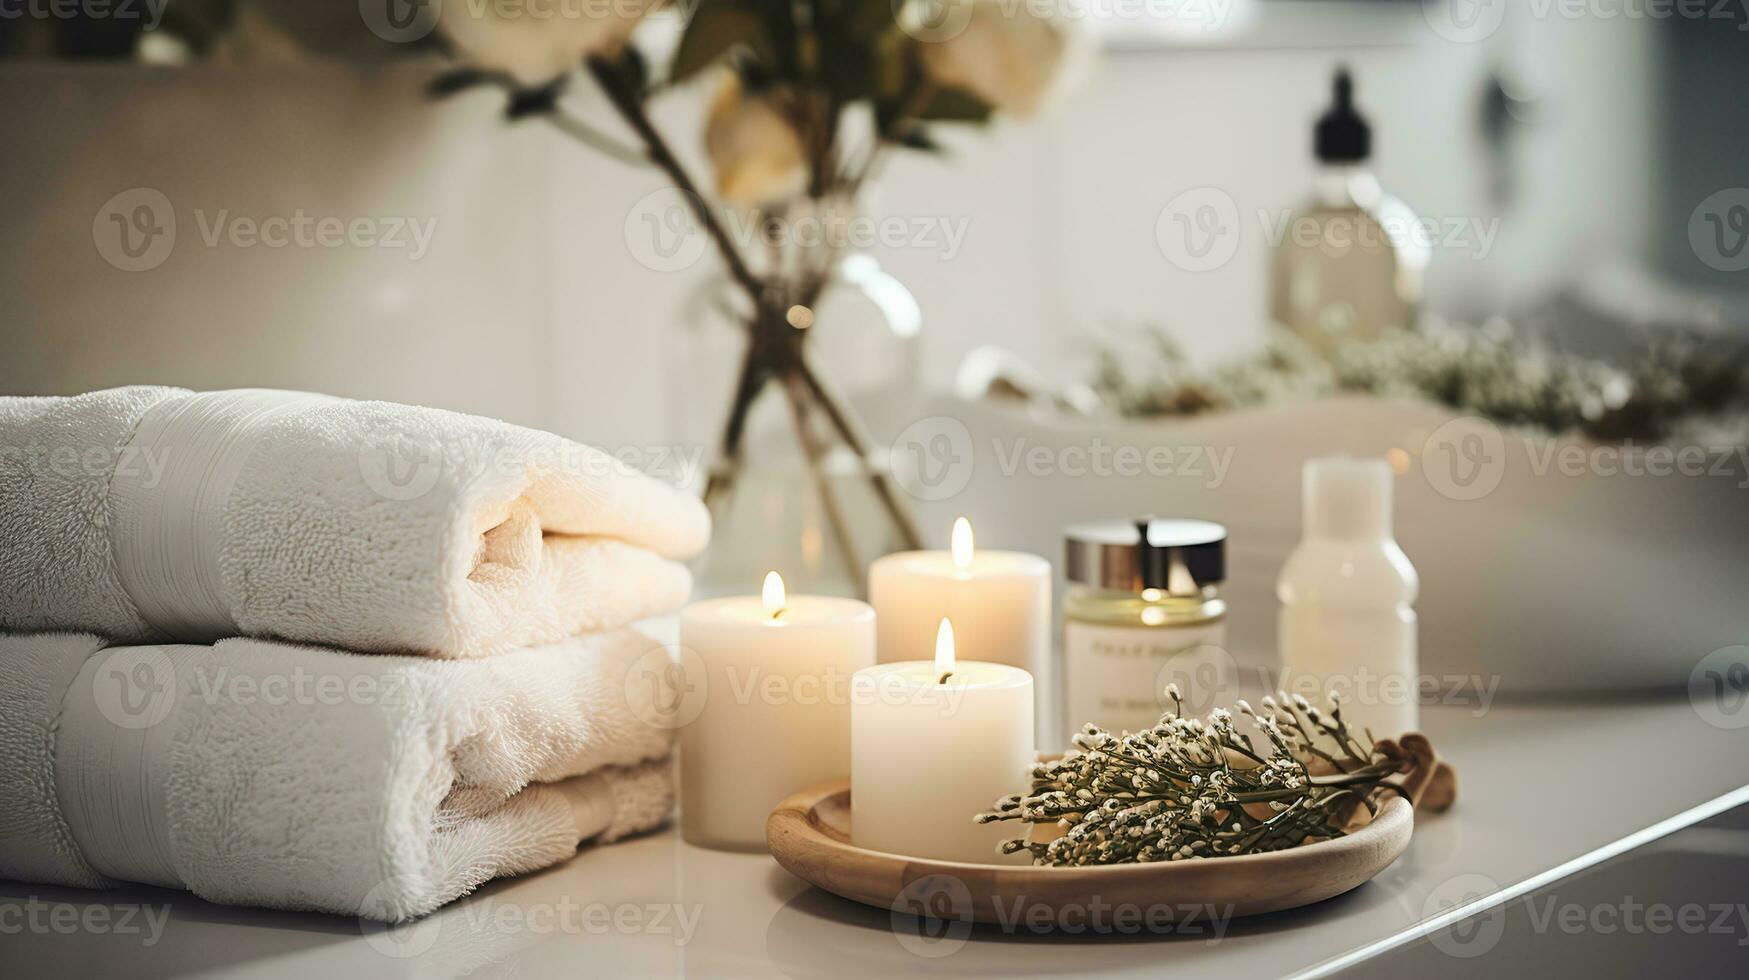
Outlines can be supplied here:
M1226 528L1198 520L1142 518L1063 532L1062 721L1109 732L1151 728L1172 709L1224 704L1237 681L1226 653Z

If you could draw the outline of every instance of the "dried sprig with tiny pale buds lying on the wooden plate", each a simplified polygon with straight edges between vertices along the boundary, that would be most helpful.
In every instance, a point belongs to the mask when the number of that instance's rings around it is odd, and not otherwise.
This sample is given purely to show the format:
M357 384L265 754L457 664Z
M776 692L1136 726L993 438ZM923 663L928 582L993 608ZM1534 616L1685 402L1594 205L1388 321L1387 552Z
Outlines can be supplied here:
M1223 858L1298 847L1341 836L1357 807L1415 760L1394 742L1375 744L1341 718L1300 695L1277 691L1263 710L1240 700L1268 746L1238 730L1233 712L1207 721L1174 709L1154 728L1112 735L1088 724L1076 751L1032 768L1032 791L1004 796L978 822L1056 822L1048 842L1002 842L1002 854L1030 850L1034 864L1119 864ZM1361 742L1364 738L1364 744Z

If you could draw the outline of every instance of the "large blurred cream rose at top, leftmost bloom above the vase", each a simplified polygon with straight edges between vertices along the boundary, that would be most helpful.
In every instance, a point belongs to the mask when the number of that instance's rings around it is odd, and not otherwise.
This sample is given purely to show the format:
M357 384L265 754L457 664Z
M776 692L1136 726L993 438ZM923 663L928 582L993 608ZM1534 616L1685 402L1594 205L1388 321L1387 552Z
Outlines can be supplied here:
M470 65L542 86L588 54L617 54L663 0L451 0L437 28Z

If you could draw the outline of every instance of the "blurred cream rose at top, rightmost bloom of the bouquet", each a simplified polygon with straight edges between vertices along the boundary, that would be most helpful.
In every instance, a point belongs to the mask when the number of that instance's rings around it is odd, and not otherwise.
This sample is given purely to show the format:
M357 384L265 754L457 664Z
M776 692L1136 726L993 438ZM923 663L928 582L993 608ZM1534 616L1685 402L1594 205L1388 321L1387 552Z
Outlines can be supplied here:
M948 10L939 32L913 32L929 77L1009 116L1035 112L1070 60L1069 24L1025 2L946 2L964 7Z

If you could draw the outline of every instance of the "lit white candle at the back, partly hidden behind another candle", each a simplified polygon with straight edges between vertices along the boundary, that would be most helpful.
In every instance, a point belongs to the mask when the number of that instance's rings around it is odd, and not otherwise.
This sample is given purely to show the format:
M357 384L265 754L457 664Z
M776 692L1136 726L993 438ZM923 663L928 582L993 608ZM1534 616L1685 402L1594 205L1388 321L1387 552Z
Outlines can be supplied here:
M953 523L948 551L901 551L869 565L880 662L927 660L936 623L953 620L962 660L1009 663L1049 677L1051 564L1023 551L979 551Z

